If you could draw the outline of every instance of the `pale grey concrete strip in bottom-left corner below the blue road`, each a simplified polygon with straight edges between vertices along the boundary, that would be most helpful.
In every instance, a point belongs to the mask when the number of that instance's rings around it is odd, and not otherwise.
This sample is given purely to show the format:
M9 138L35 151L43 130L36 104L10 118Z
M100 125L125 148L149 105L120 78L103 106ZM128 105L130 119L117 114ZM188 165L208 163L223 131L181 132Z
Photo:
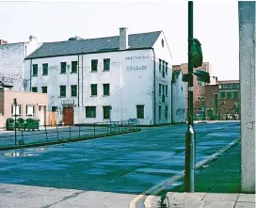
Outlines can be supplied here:
M136 195L0 184L0 207L10 208L127 208Z

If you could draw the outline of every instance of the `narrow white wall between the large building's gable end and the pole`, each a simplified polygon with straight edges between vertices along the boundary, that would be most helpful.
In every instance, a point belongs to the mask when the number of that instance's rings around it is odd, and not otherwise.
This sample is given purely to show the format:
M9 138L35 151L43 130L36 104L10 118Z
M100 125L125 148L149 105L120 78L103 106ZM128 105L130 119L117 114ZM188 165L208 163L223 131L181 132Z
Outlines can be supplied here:
M172 84L172 122L185 122L185 82L181 72L177 80Z

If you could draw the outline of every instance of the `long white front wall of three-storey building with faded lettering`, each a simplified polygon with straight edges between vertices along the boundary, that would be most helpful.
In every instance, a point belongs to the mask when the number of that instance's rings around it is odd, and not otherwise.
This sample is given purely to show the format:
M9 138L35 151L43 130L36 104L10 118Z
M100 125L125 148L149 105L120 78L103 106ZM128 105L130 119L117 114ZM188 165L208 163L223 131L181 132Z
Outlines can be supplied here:
M110 72L103 72L104 58L110 58ZM91 59L98 59L98 72L90 72ZM128 120L136 119L136 104L145 104L145 119L140 120L140 123L152 123L152 50L84 55L83 66L82 56L80 56L79 106L78 97L71 98L71 85L77 85L78 74L71 73L71 67L69 70L67 69L67 74L59 74L60 62L67 62L67 65L71 65L72 61L75 60L78 60L78 56L58 56L32 60L32 64L39 65L39 75L32 76L32 87L38 87L39 91L41 91L42 86L48 87L49 105L60 107L61 100L73 99L75 104L74 122L90 123L108 121L103 120L103 105L112 106L112 120ZM49 72L47 76L41 75L43 63L48 63ZM25 74L28 79L30 60L25 61L25 66L27 69ZM145 69L139 70L139 67L142 66ZM138 70L135 70L136 68ZM110 96L103 96L103 84L108 83L110 84ZM90 84L98 84L98 96L90 96ZM60 85L67 86L66 98L59 97ZM97 106L97 118L86 118L85 106ZM60 112L58 115L58 120L61 120Z

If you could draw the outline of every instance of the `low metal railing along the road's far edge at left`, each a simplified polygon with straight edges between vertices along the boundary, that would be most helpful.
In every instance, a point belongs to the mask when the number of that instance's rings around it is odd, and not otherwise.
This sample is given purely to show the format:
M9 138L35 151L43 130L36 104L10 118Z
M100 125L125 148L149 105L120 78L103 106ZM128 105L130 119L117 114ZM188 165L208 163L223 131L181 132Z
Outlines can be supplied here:
M94 123L76 123L73 125L43 125L39 130L24 131L16 129L17 146L39 144L51 141L66 141L91 136L107 136L139 129L138 121L121 120ZM2 131L1 131L2 130ZM14 131L0 129L0 148L15 146Z

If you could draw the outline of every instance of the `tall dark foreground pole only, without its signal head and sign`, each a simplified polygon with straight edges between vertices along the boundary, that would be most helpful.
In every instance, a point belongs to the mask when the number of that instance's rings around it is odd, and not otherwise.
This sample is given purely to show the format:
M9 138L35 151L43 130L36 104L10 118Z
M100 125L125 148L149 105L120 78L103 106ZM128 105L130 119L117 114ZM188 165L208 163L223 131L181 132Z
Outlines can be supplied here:
M196 136L193 122L193 1L188 2L188 122L185 133L185 192L195 191Z

